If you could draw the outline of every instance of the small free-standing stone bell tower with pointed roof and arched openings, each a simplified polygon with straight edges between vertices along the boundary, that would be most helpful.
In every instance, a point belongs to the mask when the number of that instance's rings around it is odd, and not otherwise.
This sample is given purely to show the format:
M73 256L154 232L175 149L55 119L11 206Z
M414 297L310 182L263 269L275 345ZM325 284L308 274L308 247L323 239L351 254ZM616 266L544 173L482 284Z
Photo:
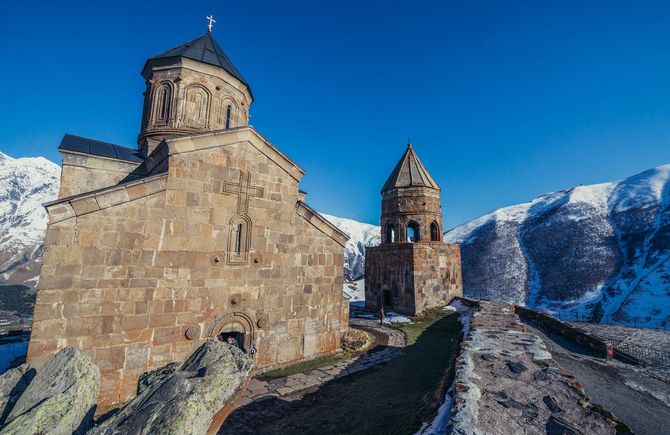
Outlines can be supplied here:
M442 241L440 186L412 144L382 187L379 246L365 249L365 304L403 314L463 296L461 250Z

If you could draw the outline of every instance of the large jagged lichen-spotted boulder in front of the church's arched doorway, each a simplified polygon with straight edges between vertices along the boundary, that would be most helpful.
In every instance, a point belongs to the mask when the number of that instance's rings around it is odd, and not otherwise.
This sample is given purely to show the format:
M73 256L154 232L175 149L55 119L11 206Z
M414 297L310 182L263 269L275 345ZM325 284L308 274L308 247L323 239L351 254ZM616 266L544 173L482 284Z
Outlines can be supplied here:
M215 415L232 406L252 367L252 359L237 347L208 340L177 371L146 386L89 433L205 434Z

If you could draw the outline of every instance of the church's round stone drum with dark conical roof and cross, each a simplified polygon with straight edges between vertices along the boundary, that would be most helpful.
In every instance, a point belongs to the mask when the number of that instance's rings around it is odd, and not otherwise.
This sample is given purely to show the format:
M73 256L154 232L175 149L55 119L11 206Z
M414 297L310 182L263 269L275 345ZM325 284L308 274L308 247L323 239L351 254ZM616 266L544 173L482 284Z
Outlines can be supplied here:
M253 95L210 31L147 60L138 144L148 156L166 137L249 123Z

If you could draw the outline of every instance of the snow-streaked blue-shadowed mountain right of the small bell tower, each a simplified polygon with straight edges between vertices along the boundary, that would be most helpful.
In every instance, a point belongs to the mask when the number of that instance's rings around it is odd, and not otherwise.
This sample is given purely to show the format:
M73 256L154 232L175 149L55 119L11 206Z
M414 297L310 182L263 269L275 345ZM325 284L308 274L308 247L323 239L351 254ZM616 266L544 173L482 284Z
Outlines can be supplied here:
M501 208L456 227L463 285L620 322L670 323L670 165Z

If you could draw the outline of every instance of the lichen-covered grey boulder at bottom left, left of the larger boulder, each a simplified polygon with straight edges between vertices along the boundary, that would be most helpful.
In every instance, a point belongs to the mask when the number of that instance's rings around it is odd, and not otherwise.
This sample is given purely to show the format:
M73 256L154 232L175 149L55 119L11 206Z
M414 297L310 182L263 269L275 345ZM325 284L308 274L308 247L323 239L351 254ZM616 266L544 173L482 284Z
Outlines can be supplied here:
M65 348L52 356L7 417L0 434L71 434L92 421L100 370L88 354Z

